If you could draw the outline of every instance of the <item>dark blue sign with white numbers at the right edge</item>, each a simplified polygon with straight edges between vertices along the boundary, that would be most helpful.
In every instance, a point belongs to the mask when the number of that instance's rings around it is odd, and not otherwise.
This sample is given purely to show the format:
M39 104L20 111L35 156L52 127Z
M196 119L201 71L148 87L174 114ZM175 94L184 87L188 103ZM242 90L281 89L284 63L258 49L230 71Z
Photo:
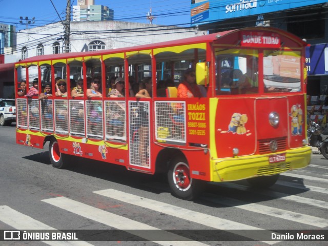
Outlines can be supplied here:
M306 47L305 65L308 75L328 74L328 44Z

